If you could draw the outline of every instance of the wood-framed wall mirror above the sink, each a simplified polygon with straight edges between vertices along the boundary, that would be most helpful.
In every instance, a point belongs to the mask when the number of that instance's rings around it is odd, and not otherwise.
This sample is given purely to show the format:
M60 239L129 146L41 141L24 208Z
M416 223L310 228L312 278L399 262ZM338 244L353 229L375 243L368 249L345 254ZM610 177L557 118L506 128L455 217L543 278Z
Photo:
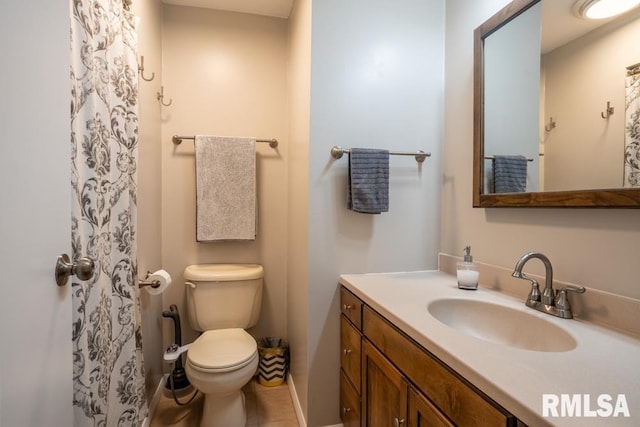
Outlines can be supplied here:
M474 207L640 207L640 8L514 0L475 30Z

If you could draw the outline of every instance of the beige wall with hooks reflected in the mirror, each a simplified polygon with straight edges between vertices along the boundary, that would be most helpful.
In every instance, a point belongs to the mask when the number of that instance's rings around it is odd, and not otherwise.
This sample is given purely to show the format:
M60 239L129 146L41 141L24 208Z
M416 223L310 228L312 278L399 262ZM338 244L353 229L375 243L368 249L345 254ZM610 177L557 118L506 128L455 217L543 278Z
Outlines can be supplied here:
M630 40L640 40L638 18L544 56L545 116L557 122L545 134L545 190L623 186L626 67L640 59ZM615 112L605 120L608 101Z

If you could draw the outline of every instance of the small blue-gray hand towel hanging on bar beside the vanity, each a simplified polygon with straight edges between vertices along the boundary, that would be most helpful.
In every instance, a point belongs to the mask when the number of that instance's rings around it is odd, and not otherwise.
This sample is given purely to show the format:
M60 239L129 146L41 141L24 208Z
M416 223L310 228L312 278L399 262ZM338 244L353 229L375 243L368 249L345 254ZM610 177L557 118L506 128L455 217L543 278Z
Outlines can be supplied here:
M350 150L347 208L370 214L389 211L389 151Z

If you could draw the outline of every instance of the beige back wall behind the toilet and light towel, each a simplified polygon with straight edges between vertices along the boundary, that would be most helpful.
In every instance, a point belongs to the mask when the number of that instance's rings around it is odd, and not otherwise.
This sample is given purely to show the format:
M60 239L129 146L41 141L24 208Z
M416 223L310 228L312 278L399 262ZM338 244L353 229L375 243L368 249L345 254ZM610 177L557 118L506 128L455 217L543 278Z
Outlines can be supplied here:
M258 263L265 271L263 306L254 336L287 332L287 21L242 13L163 5L162 150L163 266L174 285L163 306L176 304L183 341L197 334L184 305L183 271L202 263ZM211 134L276 138L256 144L258 235L254 242L195 240L194 143L171 136ZM173 326L165 320L165 344Z

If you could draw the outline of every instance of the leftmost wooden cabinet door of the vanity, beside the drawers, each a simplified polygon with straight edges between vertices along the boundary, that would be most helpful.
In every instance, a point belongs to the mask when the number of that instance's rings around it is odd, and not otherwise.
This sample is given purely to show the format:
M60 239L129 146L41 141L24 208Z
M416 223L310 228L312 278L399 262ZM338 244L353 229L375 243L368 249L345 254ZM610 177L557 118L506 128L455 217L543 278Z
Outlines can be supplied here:
M408 384L367 340L362 341L363 427L405 427Z

